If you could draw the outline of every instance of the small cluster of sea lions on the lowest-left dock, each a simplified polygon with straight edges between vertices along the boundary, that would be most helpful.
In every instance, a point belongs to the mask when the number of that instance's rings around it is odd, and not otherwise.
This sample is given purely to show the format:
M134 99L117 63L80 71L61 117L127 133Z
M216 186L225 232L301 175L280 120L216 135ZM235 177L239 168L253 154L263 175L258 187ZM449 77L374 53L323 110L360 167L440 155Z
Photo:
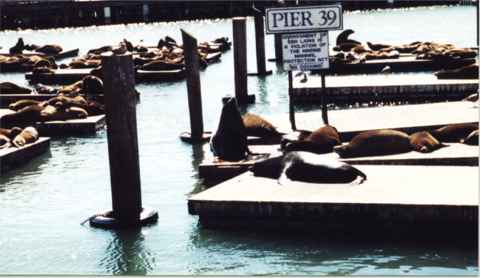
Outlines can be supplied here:
M38 138L38 131L32 126L23 129L20 127L0 128L0 149L20 148L37 141Z

